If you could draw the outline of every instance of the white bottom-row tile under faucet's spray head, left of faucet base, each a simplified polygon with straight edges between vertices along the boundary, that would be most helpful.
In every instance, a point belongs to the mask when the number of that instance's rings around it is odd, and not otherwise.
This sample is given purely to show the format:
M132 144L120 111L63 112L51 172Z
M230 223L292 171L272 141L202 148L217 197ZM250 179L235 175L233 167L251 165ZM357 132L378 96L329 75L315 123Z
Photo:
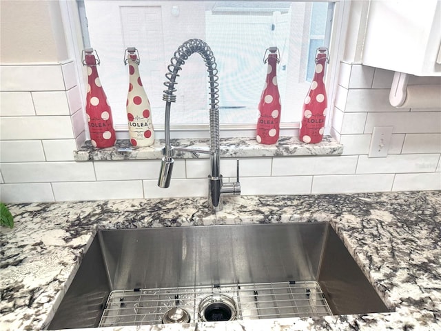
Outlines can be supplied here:
M169 188L158 187L158 180L145 180L145 198L208 197L208 179L172 179Z

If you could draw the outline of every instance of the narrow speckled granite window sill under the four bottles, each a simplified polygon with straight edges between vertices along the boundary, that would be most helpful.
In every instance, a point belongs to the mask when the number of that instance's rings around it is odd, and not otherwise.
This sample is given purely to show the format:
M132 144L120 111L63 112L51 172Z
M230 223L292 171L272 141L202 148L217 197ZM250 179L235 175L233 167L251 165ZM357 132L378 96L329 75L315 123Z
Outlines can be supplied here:
M172 146L209 149L209 139L171 139ZM163 157L164 139L156 139L149 147L134 148L128 139L117 140L110 148L94 148L85 141L74 151L75 161L158 160ZM295 137L280 137L276 145L261 145L253 138L220 139L220 157L296 157L311 155L341 155L343 146L330 136L320 143L302 143ZM176 151L176 159L207 158L207 154Z

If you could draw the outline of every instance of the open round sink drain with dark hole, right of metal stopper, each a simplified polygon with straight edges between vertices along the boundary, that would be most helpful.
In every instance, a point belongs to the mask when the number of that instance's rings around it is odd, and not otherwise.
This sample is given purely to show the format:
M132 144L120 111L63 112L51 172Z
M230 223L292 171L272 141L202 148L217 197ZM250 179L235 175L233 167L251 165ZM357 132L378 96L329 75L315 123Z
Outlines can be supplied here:
M199 303L199 317L205 322L232 321L236 318L236 303L225 294L211 294Z

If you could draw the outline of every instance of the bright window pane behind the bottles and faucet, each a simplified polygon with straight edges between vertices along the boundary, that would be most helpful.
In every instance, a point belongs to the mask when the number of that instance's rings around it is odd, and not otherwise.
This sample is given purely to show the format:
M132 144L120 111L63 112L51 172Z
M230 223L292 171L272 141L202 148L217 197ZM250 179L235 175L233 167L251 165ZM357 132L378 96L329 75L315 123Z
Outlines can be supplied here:
M314 73L318 46L327 45L332 3L298 1L130 1L84 0L90 46L101 59L99 75L112 106L116 128L127 127L128 73L124 50L134 46L152 105L155 127L163 126L165 72L174 52L187 39L205 40L219 70L220 123L256 123L265 82L265 50L280 52L278 86L281 123L300 121L302 102ZM328 30L328 31L327 31ZM208 123L207 72L197 54L180 72L172 125Z

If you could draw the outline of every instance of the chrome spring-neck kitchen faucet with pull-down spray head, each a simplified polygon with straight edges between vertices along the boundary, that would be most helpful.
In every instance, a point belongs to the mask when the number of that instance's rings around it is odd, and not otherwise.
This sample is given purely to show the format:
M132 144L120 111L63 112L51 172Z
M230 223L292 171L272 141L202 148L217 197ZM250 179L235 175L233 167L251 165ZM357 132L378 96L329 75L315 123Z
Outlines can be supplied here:
M170 143L170 108L172 102L176 101L176 92L174 86L176 83L176 77L179 76L178 71L181 70L181 66L185 63L185 60L189 58L193 53L201 54L201 57L205 61L209 77L209 150L199 150L194 148L181 148L174 147ZM209 154L212 173L208 175L209 188L208 188L208 201L215 211L222 209L222 195L240 194L239 183L239 161L237 161L236 170L236 183L223 183L222 175L220 174L220 133L219 133L219 83L218 83L218 70L216 69L216 59L214 59L211 48L200 39L190 39L185 41L178 50L174 52L174 56L171 59L171 63L167 66L169 72L165 74L168 81L164 83L167 86L167 90L164 90L163 100L165 103L165 147L163 148L163 159L161 162L161 172L159 174L158 186L160 188L168 188L170 186L170 180L172 178L173 163L176 150Z

